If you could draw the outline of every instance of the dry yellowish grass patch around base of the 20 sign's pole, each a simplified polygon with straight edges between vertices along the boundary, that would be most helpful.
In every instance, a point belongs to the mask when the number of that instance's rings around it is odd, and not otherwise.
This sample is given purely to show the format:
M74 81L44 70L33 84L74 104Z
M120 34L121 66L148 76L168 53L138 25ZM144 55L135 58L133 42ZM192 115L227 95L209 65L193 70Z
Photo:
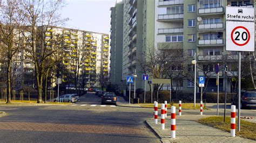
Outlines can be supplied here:
M219 128L221 130L230 132L230 117L225 118L220 116L213 116L207 118L201 118L198 120L199 123ZM235 119L237 123L237 118ZM240 135L243 138L256 140L256 124L249 121L241 120L240 132L235 130L235 134Z

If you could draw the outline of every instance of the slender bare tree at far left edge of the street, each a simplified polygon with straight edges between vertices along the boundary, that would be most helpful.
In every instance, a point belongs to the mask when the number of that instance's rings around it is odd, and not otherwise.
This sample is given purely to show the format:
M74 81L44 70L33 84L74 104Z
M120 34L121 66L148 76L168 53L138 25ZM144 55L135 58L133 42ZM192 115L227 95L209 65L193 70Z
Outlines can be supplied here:
M23 24L22 12L19 10L20 3L16 0L6 1L1 8L1 55L7 69L8 99L6 103L11 103L11 75L13 74L13 62L15 55L21 48L21 29Z

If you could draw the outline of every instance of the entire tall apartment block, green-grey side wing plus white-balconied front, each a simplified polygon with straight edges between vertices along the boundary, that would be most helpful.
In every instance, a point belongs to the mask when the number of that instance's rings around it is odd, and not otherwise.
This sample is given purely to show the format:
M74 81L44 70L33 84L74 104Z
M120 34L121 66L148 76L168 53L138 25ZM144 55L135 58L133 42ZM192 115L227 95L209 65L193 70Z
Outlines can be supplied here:
M120 53L123 54L123 59L120 59L123 60L123 80L126 76L132 76L136 69L136 88L143 87L141 75L143 73L139 67L138 57L143 57L147 48L152 45L159 50L162 47L182 49L183 55L188 56L187 63L183 66L191 73L194 72L191 61L194 53L197 53L196 60L201 67L197 76L204 76L203 70L210 71L207 73L209 80L206 91L208 92L217 91L214 64L219 63L221 69L227 64L230 78L238 75L237 66L233 66L234 63L237 64L237 52L225 50L225 6L252 8L255 5L254 1L124 0L123 3L123 53ZM219 72L219 76L220 91L223 91L225 85L223 71ZM189 80L182 82L181 90L193 92L192 82ZM227 83L228 91L232 90L231 83L232 81Z

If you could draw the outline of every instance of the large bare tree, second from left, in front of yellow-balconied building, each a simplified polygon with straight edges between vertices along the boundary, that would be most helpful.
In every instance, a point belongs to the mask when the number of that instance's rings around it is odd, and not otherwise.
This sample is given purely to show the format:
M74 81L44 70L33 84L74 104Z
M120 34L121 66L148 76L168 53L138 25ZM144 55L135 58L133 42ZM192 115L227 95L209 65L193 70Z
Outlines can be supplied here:
M66 20L60 18L59 12L64 3L60 0L47 2L23 0L21 3L26 24L29 25L24 27L23 35L29 44L27 51L31 54L35 65L38 91L37 103L42 103L43 77L45 71L47 71L47 68L45 68L46 59L54 53L53 48L49 48L47 43L45 45L45 41L47 41L45 37L48 37L52 27L63 24ZM50 39L48 42L50 42Z

